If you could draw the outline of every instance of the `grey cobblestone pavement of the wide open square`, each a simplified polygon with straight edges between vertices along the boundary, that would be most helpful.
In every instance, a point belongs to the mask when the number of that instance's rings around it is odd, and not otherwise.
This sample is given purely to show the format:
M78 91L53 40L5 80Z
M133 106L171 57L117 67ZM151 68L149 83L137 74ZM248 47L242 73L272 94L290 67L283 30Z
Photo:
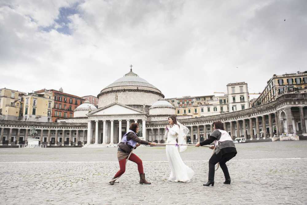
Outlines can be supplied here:
M181 153L195 175L189 183L167 181L165 148L140 147L151 185L138 183L137 165L129 162L119 183L107 182L118 170L116 148L0 149L0 204L306 204L307 141L237 144L215 186L208 179L208 148Z

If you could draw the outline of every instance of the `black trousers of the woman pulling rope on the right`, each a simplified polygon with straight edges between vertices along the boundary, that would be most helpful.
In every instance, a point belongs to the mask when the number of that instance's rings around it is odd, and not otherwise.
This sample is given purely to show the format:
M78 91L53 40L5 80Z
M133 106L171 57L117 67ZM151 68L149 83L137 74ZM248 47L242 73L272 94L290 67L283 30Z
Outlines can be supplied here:
M230 179L228 168L227 168L227 165L225 163L227 161L229 161L234 155L235 155L235 153L231 152L231 153L224 154L223 157L220 158L216 155L216 153L214 153L209 160L208 180L214 180L215 165L217 163L220 163L220 168L223 170L225 179Z

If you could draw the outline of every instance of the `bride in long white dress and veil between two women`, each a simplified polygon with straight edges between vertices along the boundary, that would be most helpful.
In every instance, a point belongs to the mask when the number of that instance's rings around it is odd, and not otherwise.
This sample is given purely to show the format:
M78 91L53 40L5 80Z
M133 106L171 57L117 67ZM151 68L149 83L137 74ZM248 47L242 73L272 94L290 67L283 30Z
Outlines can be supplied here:
M166 144L186 144L186 135L189 130L187 127L179 123L176 116L169 116L169 125L166 126L166 132L164 135L164 140ZM166 156L169 160L169 167L171 168L171 174L169 176L169 181L172 182L187 182L193 175L194 171L189 168L181 159L180 152L185 151L187 146L178 145L166 145Z

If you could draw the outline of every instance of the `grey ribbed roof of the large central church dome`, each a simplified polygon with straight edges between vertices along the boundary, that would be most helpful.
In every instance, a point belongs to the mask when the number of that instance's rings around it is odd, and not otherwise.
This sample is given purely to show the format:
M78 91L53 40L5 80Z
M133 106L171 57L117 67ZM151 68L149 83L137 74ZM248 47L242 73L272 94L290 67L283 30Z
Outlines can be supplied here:
M125 85L144 86L144 87L157 89L155 86L151 85L149 82L139 77L136 73L133 73L132 69L124 77L117 79L116 81L105 87L104 89L117 87L117 86L125 86Z

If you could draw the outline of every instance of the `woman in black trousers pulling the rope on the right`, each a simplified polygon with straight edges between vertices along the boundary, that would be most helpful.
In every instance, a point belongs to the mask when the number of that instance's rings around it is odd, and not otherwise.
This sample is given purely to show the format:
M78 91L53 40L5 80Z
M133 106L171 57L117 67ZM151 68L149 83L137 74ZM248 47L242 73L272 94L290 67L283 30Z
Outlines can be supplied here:
M199 147L214 142L215 146L212 146L211 149L216 148L215 153L209 160L208 182L203 184L204 186L214 186L214 172L217 163L220 163L220 167L223 170L225 176L224 184L230 184L230 175L225 163L237 154L235 144L233 143L231 136L224 130L223 123L221 121L213 123L213 129L214 131L207 140L196 144L196 147Z

